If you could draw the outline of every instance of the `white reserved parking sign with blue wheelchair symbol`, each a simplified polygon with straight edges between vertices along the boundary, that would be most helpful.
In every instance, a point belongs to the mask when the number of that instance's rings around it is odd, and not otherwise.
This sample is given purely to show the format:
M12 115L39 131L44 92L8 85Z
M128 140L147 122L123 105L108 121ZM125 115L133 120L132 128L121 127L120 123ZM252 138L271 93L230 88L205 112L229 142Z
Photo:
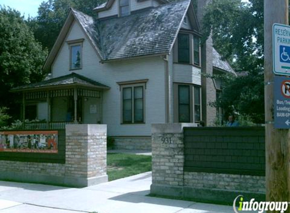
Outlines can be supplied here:
M290 27L273 24L273 72L290 75Z

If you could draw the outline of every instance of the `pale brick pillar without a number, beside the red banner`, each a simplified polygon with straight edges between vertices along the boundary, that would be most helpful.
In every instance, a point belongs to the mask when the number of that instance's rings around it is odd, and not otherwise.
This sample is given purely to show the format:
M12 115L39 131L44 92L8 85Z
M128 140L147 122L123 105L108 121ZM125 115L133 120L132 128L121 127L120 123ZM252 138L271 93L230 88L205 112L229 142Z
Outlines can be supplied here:
M64 184L85 187L106 181L107 125L66 125Z

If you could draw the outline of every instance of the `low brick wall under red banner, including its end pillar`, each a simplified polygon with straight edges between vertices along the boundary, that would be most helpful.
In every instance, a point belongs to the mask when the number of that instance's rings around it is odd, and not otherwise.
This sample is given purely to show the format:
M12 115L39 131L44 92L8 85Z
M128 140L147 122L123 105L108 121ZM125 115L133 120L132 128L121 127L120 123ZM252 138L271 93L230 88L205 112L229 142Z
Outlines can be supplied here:
M65 163L0 161L0 179L85 187L108 181L106 125L67 125Z

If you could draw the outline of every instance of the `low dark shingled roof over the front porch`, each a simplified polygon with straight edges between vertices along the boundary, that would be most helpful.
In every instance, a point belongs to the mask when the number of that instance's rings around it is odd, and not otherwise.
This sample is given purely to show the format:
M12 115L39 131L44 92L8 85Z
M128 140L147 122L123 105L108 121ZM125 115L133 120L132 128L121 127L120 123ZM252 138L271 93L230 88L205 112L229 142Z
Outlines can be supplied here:
M56 86L84 86L91 88L110 89L109 86L101 84L85 76L76 73L71 73L69 75L52 78L46 81L15 87L11 89L11 92L34 90L34 89L39 90L44 88L55 88Z

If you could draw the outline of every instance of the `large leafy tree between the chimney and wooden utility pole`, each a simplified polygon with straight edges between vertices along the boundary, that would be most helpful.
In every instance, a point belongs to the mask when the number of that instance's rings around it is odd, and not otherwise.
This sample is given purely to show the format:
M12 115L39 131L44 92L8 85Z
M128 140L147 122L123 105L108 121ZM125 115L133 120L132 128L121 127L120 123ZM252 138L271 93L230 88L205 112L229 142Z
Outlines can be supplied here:
M212 32L214 47L235 71L247 75L227 78L222 98L216 101L226 113L250 116L264 122L263 0L213 0L205 9L203 39Z

